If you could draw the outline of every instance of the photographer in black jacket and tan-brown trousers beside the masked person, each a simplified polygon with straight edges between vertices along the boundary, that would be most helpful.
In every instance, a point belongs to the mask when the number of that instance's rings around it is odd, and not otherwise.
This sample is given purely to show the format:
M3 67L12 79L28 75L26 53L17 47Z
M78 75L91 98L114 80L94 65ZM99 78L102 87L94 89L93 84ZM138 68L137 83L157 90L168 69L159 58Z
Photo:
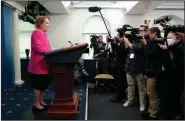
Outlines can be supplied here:
M157 27L152 27L149 30L149 41L142 41L145 45L147 94L149 96L149 110L147 114L143 115L144 119L157 119L158 117L159 103L156 79L162 71L162 49L158 45L157 38L160 38L160 30Z

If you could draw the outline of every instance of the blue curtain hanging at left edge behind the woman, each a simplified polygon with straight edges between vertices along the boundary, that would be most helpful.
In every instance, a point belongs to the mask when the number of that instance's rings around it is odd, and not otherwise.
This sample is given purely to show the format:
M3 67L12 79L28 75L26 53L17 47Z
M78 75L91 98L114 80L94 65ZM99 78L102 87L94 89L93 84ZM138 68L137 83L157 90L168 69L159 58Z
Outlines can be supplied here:
M13 10L1 3L1 85L14 87Z

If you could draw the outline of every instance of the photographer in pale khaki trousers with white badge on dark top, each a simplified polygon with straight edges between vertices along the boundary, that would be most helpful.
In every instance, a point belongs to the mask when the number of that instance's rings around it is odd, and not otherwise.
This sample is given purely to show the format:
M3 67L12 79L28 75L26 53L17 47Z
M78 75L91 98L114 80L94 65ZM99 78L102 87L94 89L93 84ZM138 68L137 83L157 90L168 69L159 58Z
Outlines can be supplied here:
M145 28L141 26L139 28L139 35L145 34ZM136 82L139 88L139 100L140 100L140 111L145 110L145 96L146 86L143 77L144 72L144 45L141 42L142 39L138 39L136 35L132 35L136 40L132 40L133 43L127 38L124 38L124 43L130 48L129 54L126 59L125 71L128 84L128 100L124 103L124 107L128 107L133 104Z

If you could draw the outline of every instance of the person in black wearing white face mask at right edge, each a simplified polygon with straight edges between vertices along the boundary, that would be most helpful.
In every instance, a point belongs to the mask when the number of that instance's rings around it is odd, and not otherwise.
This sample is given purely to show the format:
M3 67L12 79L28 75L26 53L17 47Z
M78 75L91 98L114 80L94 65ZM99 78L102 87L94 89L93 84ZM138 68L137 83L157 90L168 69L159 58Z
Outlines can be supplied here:
M160 48L166 50L161 110L166 120L175 120L179 118L182 107L180 97L184 88L184 44L176 32L169 32L167 44L159 44Z

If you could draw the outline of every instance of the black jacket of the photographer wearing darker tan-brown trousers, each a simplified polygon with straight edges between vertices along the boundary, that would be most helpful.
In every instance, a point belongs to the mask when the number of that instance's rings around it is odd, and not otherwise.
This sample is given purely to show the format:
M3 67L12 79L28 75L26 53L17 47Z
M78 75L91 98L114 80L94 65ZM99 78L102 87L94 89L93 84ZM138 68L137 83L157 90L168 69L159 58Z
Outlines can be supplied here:
M145 51L145 74L147 77L156 78L162 71L163 50L156 41L148 41L144 47Z

